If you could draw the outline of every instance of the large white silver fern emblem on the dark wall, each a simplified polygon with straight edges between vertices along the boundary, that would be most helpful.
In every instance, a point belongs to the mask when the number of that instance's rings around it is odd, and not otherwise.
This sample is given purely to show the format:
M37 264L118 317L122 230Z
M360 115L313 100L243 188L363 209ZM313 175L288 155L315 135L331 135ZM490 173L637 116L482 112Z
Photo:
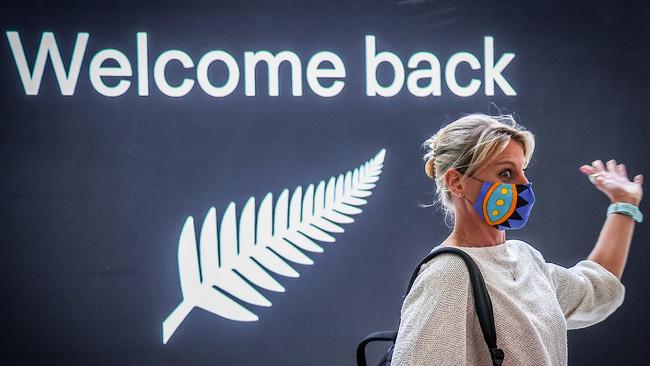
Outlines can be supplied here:
M298 186L289 199L289 190L280 193L275 208L268 193L255 215L255 199L250 197L239 218L235 204L228 205L217 229L217 214L210 208L203 220L197 251L194 219L189 216L178 242L178 274L183 301L162 323L162 342L167 343L185 317L195 307L227 319L256 321L258 316L221 291L247 303L271 306L248 281L265 290L284 292L284 287L269 271L286 277L299 277L288 262L311 265L314 262L297 249L322 253L315 240L334 242L330 233L342 233L337 224L354 222L350 215L361 213L383 167L386 150L353 171L331 177L327 183ZM235 273L234 271L237 271Z

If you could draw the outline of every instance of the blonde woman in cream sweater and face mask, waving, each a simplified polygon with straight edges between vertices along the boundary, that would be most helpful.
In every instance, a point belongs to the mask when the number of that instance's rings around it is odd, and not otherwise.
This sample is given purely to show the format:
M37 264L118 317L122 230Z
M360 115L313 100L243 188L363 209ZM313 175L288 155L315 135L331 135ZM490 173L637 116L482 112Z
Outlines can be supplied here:
M620 278L635 219L612 212L588 259L571 268L547 263L505 233L525 225L535 201L525 175L535 148L530 131L510 115L474 114L443 127L425 145L425 171L437 187L434 203L442 202L445 221L454 222L433 249L458 247L477 263L492 299L503 364L567 365L567 329L596 324L623 303ZM642 175L630 181L615 160L579 169L612 203L638 208ZM404 299L392 365L491 364L467 268L460 257L441 254L422 266Z

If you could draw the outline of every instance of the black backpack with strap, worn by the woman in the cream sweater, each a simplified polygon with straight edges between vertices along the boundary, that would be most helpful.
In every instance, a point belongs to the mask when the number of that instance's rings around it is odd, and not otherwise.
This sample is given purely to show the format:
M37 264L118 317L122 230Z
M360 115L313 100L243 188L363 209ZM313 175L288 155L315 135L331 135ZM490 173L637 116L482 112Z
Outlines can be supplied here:
M479 323L481 324L481 330L483 331L483 337L485 338L485 343L488 346L490 355L492 357L492 364L494 366L501 366L503 363L504 353L497 347L497 333L494 329L494 314L492 312L492 301L490 300L490 295L487 292L485 287L485 282L483 281L483 276L478 266L472 259L472 257L465 253L464 251L454 248L454 247L442 247L434 250L429 253L429 255L424 258L420 264L418 264L415 272L411 276L409 281L409 286L406 290L406 295L411 291L411 286L415 282L415 278L420 272L422 265L433 259L433 257L442 254L442 253L452 253L459 255L463 258L467 269L469 270L469 279L472 282L472 290L474 293L474 305L476 307L476 314L478 316ZM404 297L406 297L404 295ZM374 341L392 341L393 344L390 346L386 354L379 362L378 366L390 366L391 359L393 358L393 349L395 347L395 341L397 340L397 331L381 331L374 332L369 334L366 338L361 340L357 346L357 366L367 366L366 363L366 346L370 342ZM434 364L435 360L431 360L431 364Z

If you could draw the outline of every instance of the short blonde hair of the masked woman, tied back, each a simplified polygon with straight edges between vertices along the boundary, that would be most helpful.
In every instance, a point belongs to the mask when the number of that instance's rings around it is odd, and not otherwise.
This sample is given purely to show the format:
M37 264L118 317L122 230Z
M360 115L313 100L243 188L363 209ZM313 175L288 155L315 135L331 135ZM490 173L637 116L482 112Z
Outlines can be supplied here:
M523 145L524 167L527 167L535 150L535 136L519 125L512 114L466 115L429 137L422 144L427 148L424 171L435 181L437 197L425 207L442 203L445 223L449 218L453 223L454 204L444 180L447 170L456 169L461 174L472 176L483 162L505 150L511 138Z

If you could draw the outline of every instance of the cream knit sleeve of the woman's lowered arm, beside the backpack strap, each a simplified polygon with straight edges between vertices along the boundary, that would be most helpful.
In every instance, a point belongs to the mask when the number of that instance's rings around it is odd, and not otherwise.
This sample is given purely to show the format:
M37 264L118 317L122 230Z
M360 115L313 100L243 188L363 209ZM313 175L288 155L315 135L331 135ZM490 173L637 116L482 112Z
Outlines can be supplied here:
M426 265L404 299L391 365L465 365L467 267L453 254Z

